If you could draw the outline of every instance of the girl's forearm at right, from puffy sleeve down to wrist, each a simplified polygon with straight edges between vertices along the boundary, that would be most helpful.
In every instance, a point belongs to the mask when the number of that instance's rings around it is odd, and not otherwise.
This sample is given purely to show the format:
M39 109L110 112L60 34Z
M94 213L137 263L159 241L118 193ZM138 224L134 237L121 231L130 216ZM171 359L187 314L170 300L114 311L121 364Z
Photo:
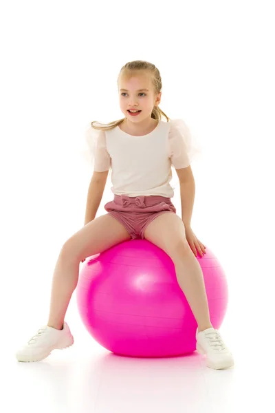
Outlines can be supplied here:
M190 228L195 200L195 179L190 165L186 168L176 169L176 172L180 184L181 220L184 222L186 228Z

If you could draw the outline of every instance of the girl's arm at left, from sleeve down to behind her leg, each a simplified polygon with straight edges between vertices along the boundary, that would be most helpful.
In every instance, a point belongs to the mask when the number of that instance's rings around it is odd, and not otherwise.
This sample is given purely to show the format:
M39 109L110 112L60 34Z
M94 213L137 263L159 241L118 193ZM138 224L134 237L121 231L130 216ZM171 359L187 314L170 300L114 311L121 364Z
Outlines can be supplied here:
M85 212L85 223L94 220L96 218L96 213L100 206L102 200L102 195L107 182L109 171L96 172L94 171L91 177L91 182L89 184L87 204Z

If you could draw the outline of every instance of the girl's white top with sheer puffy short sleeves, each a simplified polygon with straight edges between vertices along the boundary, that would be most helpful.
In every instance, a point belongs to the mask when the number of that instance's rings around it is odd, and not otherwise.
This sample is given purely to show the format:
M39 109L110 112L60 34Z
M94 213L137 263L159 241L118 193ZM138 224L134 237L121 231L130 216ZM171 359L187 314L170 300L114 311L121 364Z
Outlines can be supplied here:
M161 195L173 198L171 167L186 168L199 152L184 120L160 120L144 136L126 134L116 126L97 132L94 171L111 169L111 191L116 195ZM89 136L89 131L88 131Z

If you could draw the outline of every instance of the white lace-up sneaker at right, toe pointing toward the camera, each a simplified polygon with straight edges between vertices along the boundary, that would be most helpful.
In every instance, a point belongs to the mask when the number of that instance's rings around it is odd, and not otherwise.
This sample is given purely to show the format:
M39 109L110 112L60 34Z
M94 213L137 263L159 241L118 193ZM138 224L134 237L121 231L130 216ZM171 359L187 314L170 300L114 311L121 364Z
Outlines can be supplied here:
M234 366L231 352L225 346L218 330L206 328L206 330L196 331L197 352L206 354L207 366L214 369L230 368Z

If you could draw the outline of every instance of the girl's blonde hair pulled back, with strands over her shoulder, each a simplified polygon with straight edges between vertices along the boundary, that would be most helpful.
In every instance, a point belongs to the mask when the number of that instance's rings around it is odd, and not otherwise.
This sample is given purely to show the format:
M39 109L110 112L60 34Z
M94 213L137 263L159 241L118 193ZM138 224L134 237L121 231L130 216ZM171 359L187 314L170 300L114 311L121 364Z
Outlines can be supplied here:
M118 83L120 81L121 76L125 78L129 78L131 75L133 75L133 72L138 72L138 71L146 72L151 76L151 81L152 81L155 96L157 96L160 92L162 92L162 78L160 76L159 70L157 69L157 67L155 67L155 65L153 65L153 63L149 63L146 61L138 60L138 61L132 61L132 62L126 63L126 65L124 65L120 70L120 73L118 75ZM159 108L158 105L154 106L152 110L151 118L159 121L159 120L162 120L162 115L166 118L167 122L170 121L170 118L168 118L168 116L164 114L164 112L162 111L162 109ZM120 125L120 123L122 123L125 119L126 118L114 120L113 122L107 123L104 126L94 125L94 123L99 123L99 122L97 120L93 120L91 122L91 127L93 127L94 129L98 129L98 130L108 131Z

